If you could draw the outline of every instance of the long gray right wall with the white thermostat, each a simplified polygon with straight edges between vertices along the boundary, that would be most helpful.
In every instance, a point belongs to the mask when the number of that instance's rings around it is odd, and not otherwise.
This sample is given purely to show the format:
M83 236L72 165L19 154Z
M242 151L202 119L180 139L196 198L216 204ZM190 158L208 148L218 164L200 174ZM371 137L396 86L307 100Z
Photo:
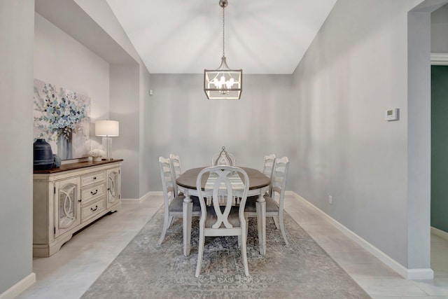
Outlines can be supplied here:
M409 269L430 267L429 13L408 24L420 2L338 0L294 74L294 190Z

